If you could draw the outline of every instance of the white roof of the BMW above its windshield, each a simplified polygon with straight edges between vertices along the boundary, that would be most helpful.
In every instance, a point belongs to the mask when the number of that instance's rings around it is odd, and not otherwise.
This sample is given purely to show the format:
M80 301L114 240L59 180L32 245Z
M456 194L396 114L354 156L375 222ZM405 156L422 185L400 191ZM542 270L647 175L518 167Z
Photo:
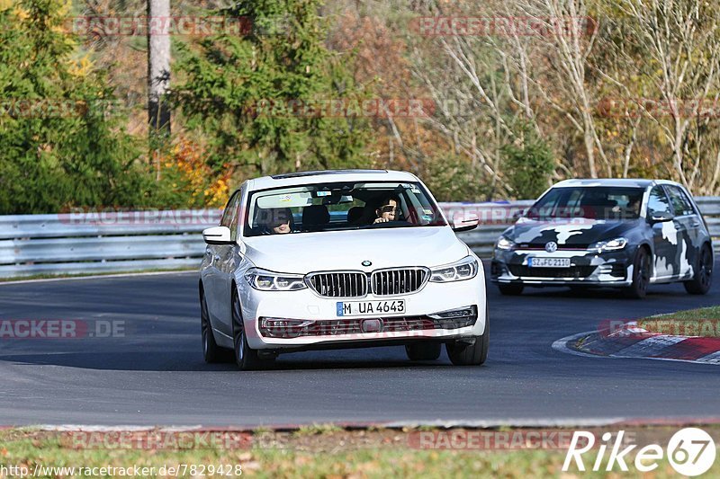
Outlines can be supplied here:
M322 170L275 174L248 180L248 190L266 190L322 182L418 182L412 173L393 170Z

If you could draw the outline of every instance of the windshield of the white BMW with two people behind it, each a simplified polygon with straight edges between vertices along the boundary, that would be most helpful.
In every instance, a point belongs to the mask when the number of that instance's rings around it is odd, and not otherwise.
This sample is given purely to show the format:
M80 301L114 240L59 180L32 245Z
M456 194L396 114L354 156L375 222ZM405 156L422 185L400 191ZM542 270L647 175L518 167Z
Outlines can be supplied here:
M325 182L251 192L244 235L446 225L419 182Z

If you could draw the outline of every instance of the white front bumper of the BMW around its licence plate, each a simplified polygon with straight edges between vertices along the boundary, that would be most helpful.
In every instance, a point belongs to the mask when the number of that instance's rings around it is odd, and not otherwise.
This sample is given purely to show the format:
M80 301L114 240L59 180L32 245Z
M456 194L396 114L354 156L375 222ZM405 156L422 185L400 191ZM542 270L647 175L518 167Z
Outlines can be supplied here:
M485 280L475 278L452 283L428 282L418 292L400 297L320 297L309 288L298 291L258 291L241 288L242 313L248 345L257 350L312 349L312 346L347 344L347 347L382 342L453 340L479 336L485 331ZM402 314L338 317L339 301L405 300ZM442 317L453 310L472 314ZM266 321L275 318L277 322ZM280 324L279 320L291 322ZM380 320L381 327L376 328ZM294 321L293 321L294 320ZM373 327L366 328L371 321ZM302 322L302 323L299 323ZM268 327L277 324L278 327Z

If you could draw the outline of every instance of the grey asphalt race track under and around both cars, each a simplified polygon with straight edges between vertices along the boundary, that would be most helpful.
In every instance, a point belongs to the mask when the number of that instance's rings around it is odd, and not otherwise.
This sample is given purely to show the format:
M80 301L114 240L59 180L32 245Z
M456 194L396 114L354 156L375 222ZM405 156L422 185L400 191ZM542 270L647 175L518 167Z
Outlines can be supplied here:
M586 425L720 418L720 367L583 358L552 349L604 319L720 304L681 285L645 300L613 290L489 286L490 357L455 368L445 350L410 363L402 347L302 352L271 371L202 361L197 274L0 285L0 319L114 322L121 337L0 340L0 424L254 426L312 422ZM124 323L120 323L124 322Z

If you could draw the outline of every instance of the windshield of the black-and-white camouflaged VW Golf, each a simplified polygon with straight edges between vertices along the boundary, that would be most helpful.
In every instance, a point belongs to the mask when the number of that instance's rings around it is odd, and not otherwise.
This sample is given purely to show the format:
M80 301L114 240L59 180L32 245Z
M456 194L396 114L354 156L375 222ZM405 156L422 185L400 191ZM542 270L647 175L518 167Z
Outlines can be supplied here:
M526 217L635 219L640 216L643 194L643 188L609 186L554 188L528 209Z

